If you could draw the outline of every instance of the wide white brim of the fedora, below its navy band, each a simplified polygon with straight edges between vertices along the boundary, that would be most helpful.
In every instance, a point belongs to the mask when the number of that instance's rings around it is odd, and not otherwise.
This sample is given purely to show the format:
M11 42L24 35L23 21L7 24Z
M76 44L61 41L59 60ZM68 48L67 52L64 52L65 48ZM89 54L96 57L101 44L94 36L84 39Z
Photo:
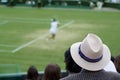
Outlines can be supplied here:
M79 55L79 46L81 42L74 43L71 48L71 56L73 60L83 69L89 70L89 71L98 71L103 69L110 61L111 58L111 53L109 48L103 44L103 57L100 61L92 63L84 60L82 57Z

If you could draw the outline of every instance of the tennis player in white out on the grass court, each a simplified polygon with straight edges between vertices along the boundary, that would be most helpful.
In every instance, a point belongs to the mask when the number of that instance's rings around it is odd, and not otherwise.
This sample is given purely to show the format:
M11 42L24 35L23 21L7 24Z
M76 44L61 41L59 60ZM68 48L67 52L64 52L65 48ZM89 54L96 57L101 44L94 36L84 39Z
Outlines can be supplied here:
M51 34L50 39L54 40L56 37L56 32L57 32L57 28L59 26L59 22L56 21L55 18L53 18L50 26L51 26L50 27L50 34Z

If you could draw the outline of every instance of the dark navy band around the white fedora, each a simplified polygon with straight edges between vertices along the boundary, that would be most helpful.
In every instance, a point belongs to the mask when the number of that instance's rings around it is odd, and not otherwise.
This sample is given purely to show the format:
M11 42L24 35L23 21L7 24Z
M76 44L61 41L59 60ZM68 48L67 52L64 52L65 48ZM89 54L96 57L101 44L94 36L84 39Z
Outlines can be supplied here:
M79 52L79 55L80 55L84 60L86 60L86 61L88 61L88 62L95 63L95 62L100 61L100 60L102 59L102 57L103 57L103 55L102 55L101 57L99 57L99 58L97 58L97 59L90 59L90 58L88 58L87 56L85 56L85 55L82 53L80 47L81 47L81 45L79 46L79 51L78 51L78 52Z

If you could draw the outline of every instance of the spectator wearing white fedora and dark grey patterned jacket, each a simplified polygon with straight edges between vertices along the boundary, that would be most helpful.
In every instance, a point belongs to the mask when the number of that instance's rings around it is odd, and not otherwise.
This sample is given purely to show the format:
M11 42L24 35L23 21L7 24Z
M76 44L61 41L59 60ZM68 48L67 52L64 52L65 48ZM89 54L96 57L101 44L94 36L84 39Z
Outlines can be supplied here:
M72 44L70 53L83 69L61 80L120 80L120 74L103 70L110 61L111 53L97 35L88 34L82 42Z

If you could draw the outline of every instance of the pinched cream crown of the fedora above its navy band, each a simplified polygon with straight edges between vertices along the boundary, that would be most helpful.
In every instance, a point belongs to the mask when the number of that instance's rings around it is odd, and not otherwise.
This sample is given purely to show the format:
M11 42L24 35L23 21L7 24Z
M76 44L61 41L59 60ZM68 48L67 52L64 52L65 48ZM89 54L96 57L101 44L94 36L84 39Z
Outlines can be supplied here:
M100 58L102 56L102 51L102 40L94 34L88 34L81 43L81 52L90 59Z

